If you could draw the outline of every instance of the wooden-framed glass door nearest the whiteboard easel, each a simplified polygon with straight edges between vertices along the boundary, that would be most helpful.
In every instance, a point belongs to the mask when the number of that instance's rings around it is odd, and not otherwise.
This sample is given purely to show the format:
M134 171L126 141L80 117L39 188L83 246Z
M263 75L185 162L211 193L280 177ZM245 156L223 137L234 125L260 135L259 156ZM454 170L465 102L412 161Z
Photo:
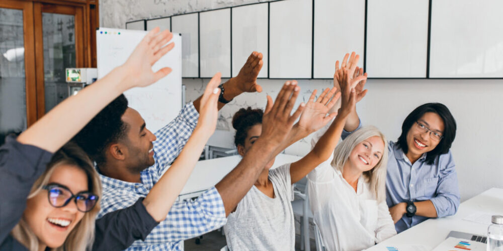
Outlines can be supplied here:
M34 4L38 117L68 97L65 68L83 67L83 8Z

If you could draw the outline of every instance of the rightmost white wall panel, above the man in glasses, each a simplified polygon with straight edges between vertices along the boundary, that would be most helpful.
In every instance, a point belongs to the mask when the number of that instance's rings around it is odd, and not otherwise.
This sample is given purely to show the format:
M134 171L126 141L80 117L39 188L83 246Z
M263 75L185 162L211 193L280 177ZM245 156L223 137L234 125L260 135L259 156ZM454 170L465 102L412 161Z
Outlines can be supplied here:
M430 77L503 77L503 1L435 0Z

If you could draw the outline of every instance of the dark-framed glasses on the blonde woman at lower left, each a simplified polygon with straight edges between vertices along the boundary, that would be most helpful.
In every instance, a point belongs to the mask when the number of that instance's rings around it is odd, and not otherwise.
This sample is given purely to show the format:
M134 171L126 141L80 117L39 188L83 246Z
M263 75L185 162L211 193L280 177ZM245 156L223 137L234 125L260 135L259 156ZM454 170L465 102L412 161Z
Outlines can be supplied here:
M47 198L53 207L64 207L73 199L80 212L91 211L99 198L98 195L87 191L73 195L66 186L56 183L45 185L42 188L47 190Z

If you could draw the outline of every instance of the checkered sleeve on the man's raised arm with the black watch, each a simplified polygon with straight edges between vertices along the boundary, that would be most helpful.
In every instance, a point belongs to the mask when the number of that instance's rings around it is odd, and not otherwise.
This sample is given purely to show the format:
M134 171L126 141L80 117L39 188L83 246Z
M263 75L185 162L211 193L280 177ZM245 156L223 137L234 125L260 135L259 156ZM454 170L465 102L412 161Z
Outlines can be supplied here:
M155 132L157 140L153 144L158 175L178 157L196 128L198 119L196 107L189 102L173 121Z

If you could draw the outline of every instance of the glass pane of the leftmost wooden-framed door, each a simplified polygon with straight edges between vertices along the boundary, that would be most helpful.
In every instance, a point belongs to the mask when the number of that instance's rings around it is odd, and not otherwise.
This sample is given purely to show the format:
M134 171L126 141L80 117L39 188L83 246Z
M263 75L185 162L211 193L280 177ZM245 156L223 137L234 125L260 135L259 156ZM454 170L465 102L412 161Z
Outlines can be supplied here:
M26 128L23 10L0 8L0 143Z

